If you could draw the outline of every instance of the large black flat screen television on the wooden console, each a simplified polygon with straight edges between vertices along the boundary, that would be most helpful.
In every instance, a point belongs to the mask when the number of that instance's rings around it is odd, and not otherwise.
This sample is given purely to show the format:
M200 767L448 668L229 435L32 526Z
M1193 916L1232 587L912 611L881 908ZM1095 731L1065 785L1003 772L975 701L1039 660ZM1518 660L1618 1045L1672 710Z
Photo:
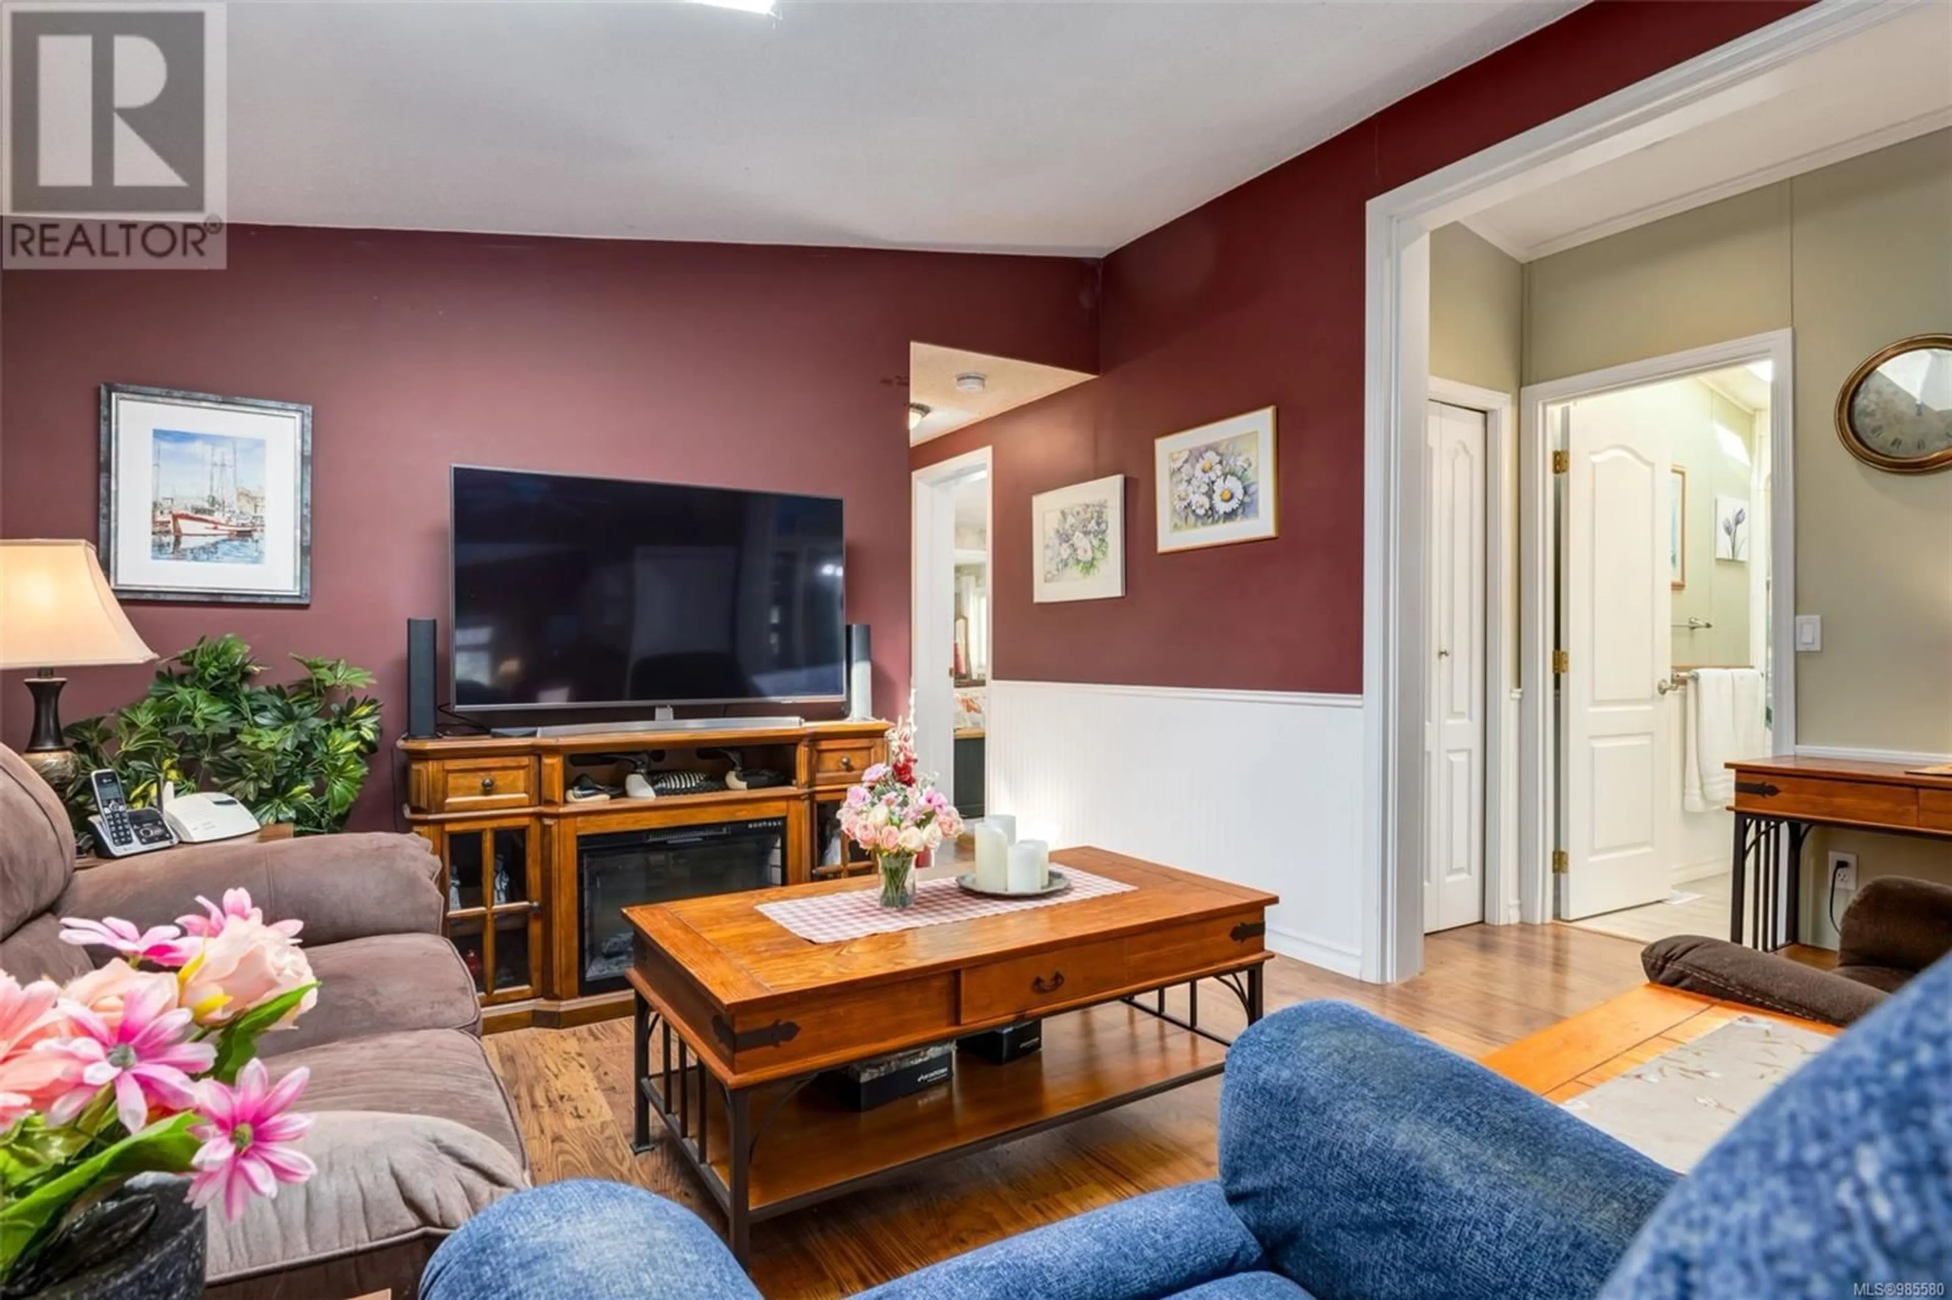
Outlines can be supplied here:
M841 504L451 470L455 709L845 699Z

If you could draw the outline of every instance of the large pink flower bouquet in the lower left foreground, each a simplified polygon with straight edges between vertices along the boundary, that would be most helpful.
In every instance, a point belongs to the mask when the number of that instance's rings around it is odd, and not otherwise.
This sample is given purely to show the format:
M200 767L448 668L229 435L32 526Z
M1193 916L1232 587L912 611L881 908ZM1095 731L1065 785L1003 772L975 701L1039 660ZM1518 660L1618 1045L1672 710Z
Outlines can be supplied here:
M258 1035L318 999L299 921L265 923L244 890L146 931L62 921L62 941L115 953L68 980L0 970L0 1284L64 1214L137 1173L191 1173L189 1202L236 1218L250 1197L314 1173Z

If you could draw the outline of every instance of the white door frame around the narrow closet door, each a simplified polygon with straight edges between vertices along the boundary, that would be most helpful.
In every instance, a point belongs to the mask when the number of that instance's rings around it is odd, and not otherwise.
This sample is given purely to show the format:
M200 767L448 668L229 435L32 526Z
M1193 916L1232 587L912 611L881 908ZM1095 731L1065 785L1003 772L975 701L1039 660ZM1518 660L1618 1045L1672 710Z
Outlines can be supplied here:
M1511 496L1517 429L1513 398L1497 388L1480 388L1431 375L1433 402L1484 412L1485 441L1485 529L1484 529L1484 923L1511 925L1519 919L1519 802L1517 732L1519 673L1517 586L1513 556L1519 548L1519 511ZM1437 502L1425 494L1425 535ZM1425 660L1429 664L1429 660Z

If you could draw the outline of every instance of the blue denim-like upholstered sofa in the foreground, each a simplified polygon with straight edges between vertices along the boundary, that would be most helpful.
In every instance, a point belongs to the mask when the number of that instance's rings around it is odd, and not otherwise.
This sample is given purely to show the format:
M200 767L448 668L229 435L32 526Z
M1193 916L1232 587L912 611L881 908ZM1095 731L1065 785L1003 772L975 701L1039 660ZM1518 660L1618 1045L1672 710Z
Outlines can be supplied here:
M917 1224L927 1232L927 1224ZM1843 1035L1687 1179L1482 1066L1316 1001L1236 1042L1220 1179L1081 1214L861 1300L1944 1296L1952 958ZM757 1300L689 1210L517 1193L424 1300Z

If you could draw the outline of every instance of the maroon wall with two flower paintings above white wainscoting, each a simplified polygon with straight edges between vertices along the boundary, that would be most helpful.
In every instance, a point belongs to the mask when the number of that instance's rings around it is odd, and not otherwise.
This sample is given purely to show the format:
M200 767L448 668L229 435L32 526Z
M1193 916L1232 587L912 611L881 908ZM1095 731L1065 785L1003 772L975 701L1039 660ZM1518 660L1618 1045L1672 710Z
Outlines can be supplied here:
M1591 4L1107 258L1101 377L914 453L996 449L996 675L1361 691L1366 201L1798 8ZM1281 535L1158 554L1152 441L1261 406ZM1031 603L1031 494L1103 474L1126 597Z

